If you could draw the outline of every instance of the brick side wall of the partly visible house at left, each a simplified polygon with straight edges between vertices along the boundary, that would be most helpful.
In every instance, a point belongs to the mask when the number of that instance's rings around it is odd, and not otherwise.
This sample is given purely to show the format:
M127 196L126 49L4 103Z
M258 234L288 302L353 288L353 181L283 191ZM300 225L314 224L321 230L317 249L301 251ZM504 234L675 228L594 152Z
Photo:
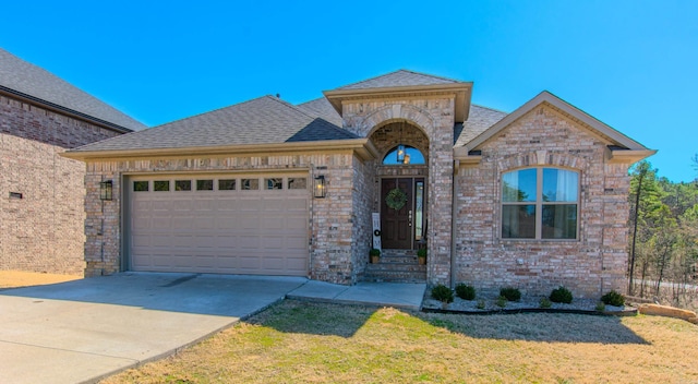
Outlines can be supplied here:
M83 273L85 165L59 154L118 134L0 96L0 269Z

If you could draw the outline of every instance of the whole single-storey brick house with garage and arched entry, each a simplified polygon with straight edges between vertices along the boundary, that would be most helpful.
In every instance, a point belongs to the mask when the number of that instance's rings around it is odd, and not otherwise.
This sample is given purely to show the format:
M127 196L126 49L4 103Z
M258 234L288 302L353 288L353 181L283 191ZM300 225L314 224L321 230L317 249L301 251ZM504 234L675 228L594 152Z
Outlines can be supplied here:
M654 152L547 92L505 113L471 91L397 71L69 151L87 164L86 273L623 290L627 171Z

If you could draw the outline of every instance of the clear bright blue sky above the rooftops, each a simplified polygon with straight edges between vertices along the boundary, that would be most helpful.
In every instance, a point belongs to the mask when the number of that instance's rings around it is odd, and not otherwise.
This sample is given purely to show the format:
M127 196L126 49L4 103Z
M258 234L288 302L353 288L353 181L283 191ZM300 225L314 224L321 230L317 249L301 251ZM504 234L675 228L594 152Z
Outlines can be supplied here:
M398 69L513 111L547 89L698 177L698 1L4 2L0 46L157 125Z

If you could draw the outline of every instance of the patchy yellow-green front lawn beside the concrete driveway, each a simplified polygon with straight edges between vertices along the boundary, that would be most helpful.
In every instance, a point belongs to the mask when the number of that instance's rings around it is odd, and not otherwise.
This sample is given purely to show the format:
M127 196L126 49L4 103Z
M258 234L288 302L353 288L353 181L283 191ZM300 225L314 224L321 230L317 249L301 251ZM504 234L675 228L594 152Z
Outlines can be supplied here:
M697 326L655 316L426 314L287 300L104 382L686 383L698 381L696 345Z

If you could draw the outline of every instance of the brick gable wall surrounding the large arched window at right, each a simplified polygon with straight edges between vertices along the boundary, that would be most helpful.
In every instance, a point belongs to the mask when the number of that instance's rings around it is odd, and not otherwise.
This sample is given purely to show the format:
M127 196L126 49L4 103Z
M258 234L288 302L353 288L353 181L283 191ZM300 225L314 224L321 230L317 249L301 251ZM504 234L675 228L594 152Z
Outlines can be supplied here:
M623 291L627 263L627 165L604 165L605 144L581 123L539 106L482 145L482 161L457 180L456 280L496 291L514 286L550 295L561 285L575 297ZM526 167L580 172L579 239L501 238L501 179Z

